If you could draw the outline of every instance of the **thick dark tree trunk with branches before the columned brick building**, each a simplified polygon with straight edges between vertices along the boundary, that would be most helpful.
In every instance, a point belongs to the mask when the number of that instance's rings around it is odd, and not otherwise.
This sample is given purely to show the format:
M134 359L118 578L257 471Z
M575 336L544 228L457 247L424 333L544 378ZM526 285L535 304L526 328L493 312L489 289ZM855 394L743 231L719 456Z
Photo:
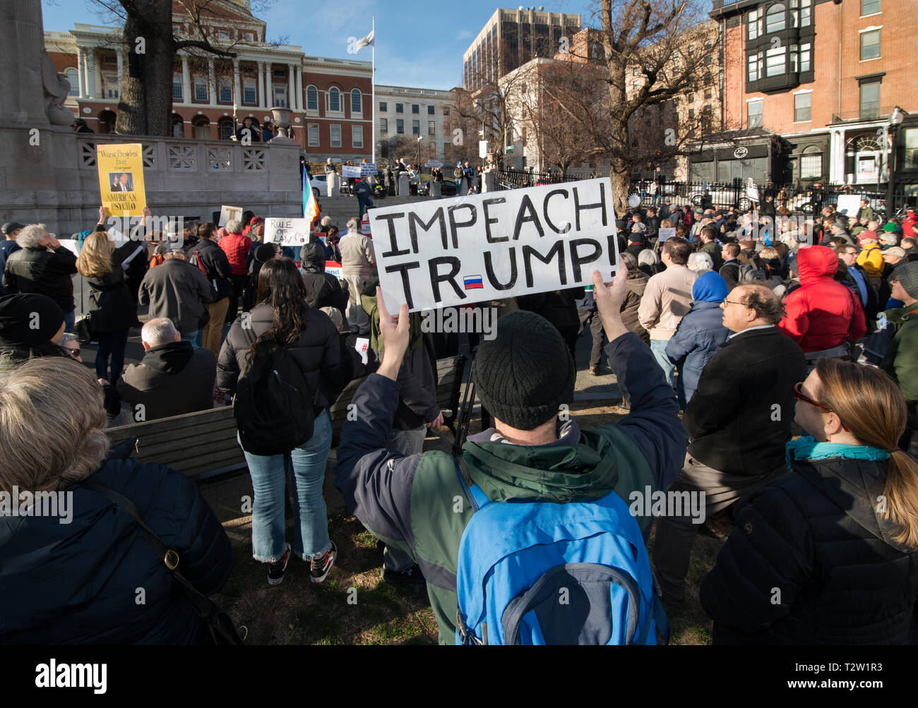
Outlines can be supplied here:
M172 84L175 55L186 50L197 56L235 58L237 40L217 46L205 29L239 8L223 0L93 0L108 21L123 23L120 46L128 57L122 74L115 131L127 135L171 136ZM252 10L266 10L274 0L253 0ZM173 15L192 28L186 38L173 33Z

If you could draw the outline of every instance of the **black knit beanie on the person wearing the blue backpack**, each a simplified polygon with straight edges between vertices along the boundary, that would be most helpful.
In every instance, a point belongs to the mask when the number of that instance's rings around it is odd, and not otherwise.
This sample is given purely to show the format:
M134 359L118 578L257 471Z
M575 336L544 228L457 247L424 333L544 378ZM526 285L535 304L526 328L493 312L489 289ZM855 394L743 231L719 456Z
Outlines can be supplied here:
M482 341L472 375L490 413L532 430L573 400L577 368L558 330L543 316L520 310L501 317L497 337Z

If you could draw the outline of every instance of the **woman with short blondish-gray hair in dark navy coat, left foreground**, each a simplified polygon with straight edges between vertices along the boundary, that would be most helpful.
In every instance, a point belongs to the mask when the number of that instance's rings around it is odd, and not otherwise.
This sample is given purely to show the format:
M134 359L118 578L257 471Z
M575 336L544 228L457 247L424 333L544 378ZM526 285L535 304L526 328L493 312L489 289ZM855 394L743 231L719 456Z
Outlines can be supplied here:
M99 488L136 506L204 594L229 578L229 538L193 480L131 459L133 440L110 449L105 426L102 389L70 358L30 360L0 381L0 492L31 502L0 515L0 603L17 608L0 644L213 642L140 526Z

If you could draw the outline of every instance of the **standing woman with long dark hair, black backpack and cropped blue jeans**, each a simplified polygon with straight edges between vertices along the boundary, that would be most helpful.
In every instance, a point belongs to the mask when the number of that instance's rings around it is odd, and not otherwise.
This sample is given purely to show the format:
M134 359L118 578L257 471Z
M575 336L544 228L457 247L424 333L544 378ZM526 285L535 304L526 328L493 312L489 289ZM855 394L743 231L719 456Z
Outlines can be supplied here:
M254 343L250 344L243 325L257 337ZM241 374L259 371L278 347L296 363L313 395L315 424L312 437L284 454L256 455L243 448L255 492L252 556L268 564L269 584L284 580L290 558L284 523L286 472L292 468L296 502L293 551L308 561L311 581L321 582L338 552L329 538L322 482L331 447L328 406L342 388L341 344L329 316L306 303L297 266L286 258L264 263L258 274L257 304L229 328L220 350L218 386L235 393Z

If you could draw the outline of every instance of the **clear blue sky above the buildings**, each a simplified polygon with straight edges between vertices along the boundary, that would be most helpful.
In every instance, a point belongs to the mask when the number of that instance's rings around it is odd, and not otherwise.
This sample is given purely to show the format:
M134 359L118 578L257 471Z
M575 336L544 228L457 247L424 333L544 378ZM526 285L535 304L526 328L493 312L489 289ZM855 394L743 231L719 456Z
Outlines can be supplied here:
M591 16L589 0L543 0L552 12ZM363 37L376 17L376 83L450 89L462 83L462 56L498 7L495 0L275 0L260 19L268 39L286 36L306 54L370 61L371 50L347 53L348 37ZM75 23L101 24L93 0L41 0L45 29L68 31Z

